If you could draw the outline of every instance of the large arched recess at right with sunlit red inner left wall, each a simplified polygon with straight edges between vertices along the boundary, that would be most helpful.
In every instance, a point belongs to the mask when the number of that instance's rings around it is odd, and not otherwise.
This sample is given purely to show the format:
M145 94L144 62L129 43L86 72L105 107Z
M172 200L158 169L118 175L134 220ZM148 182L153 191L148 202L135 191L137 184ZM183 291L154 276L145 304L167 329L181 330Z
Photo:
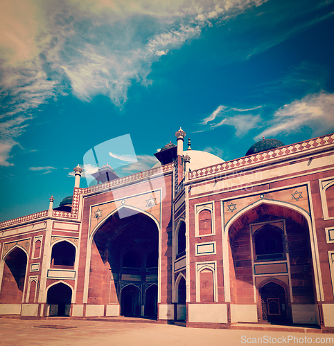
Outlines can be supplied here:
M308 220L302 212L272 201L258 203L229 225L230 298L257 304L249 320L278 324L316 323L317 267ZM226 272L225 272L226 273ZM226 276L225 276L226 279ZM279 282L282 282L280 284ZM240 317L240 322L244 322Z

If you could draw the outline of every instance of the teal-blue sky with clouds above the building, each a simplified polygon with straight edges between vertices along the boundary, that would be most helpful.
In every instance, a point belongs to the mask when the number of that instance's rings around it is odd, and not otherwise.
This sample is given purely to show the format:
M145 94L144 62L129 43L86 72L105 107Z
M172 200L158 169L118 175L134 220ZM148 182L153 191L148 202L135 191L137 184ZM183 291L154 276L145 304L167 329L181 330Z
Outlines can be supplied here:
M58 206L73 167L118 136L148 169L179 127L225 161L262 136L333 132L333 12L315 0L2 1L0 221L46 210L51 194Z

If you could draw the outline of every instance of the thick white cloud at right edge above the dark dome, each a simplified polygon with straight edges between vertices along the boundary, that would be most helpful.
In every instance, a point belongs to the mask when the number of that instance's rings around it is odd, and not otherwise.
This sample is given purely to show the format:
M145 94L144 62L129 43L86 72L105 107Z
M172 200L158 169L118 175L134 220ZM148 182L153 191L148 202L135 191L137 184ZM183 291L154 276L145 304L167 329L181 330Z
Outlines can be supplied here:
M269 126L254 139L276 134L291 134L308 127L313 136L329 133L334 129L334 94L322 91L306 95L278 109Z

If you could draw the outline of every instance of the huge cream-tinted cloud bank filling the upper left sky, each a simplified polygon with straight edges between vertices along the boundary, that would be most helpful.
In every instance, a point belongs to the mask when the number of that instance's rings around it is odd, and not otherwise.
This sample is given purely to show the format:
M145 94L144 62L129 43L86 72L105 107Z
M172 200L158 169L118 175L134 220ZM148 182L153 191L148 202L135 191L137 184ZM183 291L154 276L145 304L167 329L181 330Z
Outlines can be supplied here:
M152 63L161 56L214 21L265 1L2 1L0 165L12 165L15 138L50 98L71 90L85 101L107 95L122 107L132 83L151 83Z

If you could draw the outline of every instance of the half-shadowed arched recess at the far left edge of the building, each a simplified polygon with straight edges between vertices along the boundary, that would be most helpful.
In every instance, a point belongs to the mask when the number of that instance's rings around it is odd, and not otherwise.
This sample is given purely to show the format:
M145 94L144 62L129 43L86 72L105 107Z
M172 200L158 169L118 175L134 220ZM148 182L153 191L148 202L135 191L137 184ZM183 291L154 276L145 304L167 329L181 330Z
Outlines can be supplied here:
M26 279L27 255L16 247L6 256L3 266L0 302L21 304Z

